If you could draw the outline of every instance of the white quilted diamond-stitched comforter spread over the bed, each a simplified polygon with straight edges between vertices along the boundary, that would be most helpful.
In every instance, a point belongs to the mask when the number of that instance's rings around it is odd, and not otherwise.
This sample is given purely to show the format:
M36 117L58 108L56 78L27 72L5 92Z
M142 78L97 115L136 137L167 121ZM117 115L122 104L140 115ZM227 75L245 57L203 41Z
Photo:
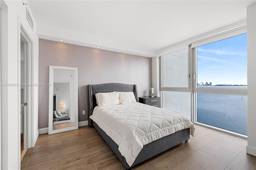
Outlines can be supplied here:
M118 144L129 166L144 145L185 128L194 136L195 129L180 113L142 103L97 106L90 119Z

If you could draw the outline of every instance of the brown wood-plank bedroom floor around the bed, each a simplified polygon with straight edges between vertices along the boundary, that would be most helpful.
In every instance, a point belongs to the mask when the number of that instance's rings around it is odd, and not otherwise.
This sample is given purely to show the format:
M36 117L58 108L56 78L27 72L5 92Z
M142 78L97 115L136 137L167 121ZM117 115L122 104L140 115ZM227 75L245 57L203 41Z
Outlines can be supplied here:
M247 140L196 125L188 142L143 162L133 170L254 170L256 157L246 154ZM94 128L41 134L29 148L21 169L125 169Z

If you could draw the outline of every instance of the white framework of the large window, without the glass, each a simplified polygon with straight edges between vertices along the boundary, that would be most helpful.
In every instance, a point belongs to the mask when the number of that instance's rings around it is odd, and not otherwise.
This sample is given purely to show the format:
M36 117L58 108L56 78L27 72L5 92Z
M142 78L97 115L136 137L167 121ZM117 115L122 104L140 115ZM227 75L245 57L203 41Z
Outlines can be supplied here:
M162 56L159 57L159 65L160 65L160 96L162 100L162 91L177 91L177 92L190 92L190 102L191 102L191 121L194 124L212 128L214 130L218 130L221 132L225 132L228 134L232 134L234 136L247 138L246 135L239 134L236 132L231 132L225 129L212 127L210 125L205 125L202 123L196 122L196 93L214 93L214 94L226 94L226 95L244 95L247 96L247 89L224 89L224 88L198 88L197 87L197 77L193 77L194 75L197 76L197 55L196 55L196 48L201 45L205 45L208 43L224 40L226 38L231 38L234 36L238 36L240 34L247 33L246 26L240 26L234 29L229 29L225 32L221 32L219 34L215 34L212 36L208 36L206 38L187 43L185 45L178 46L176 48L172 48L170 50L163 51ZM163 55L178 52L184 49L188 49L188 87L163 87ZM248 72L248 70L247 70ZM162 103L162 102L161 102ZM162 107L162 106L161 106Z

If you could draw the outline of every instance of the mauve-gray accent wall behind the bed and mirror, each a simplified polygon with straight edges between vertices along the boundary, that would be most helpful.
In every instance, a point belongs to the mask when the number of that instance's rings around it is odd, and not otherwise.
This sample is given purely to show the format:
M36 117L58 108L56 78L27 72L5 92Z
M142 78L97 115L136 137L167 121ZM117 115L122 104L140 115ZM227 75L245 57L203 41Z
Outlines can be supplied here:
M149 95L152 59L125 53L39 39L39 83L49 83L49 65L78 68L78 121L87 121L87 85L137 84ZM38 128L48 127L49 87L39 87ZM82 115L82 111L86 111Z

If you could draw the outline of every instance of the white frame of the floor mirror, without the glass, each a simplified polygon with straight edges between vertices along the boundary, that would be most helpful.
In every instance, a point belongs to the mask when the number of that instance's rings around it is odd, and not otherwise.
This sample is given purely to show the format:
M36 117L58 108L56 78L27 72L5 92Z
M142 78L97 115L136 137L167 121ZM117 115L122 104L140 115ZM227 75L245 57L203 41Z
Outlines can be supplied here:
M61 128L52 130L53 125L53 88L54 88L54 69L58 70L72 70L74 71L74 108L75 108L75 126L68 127L68 128ZM78 129L78 81L77 81L77 68L74 67L60 67L60 66L49 66L49 125L48 125L48 134L55 134L59 132L66 132L68 130L75 130Z

